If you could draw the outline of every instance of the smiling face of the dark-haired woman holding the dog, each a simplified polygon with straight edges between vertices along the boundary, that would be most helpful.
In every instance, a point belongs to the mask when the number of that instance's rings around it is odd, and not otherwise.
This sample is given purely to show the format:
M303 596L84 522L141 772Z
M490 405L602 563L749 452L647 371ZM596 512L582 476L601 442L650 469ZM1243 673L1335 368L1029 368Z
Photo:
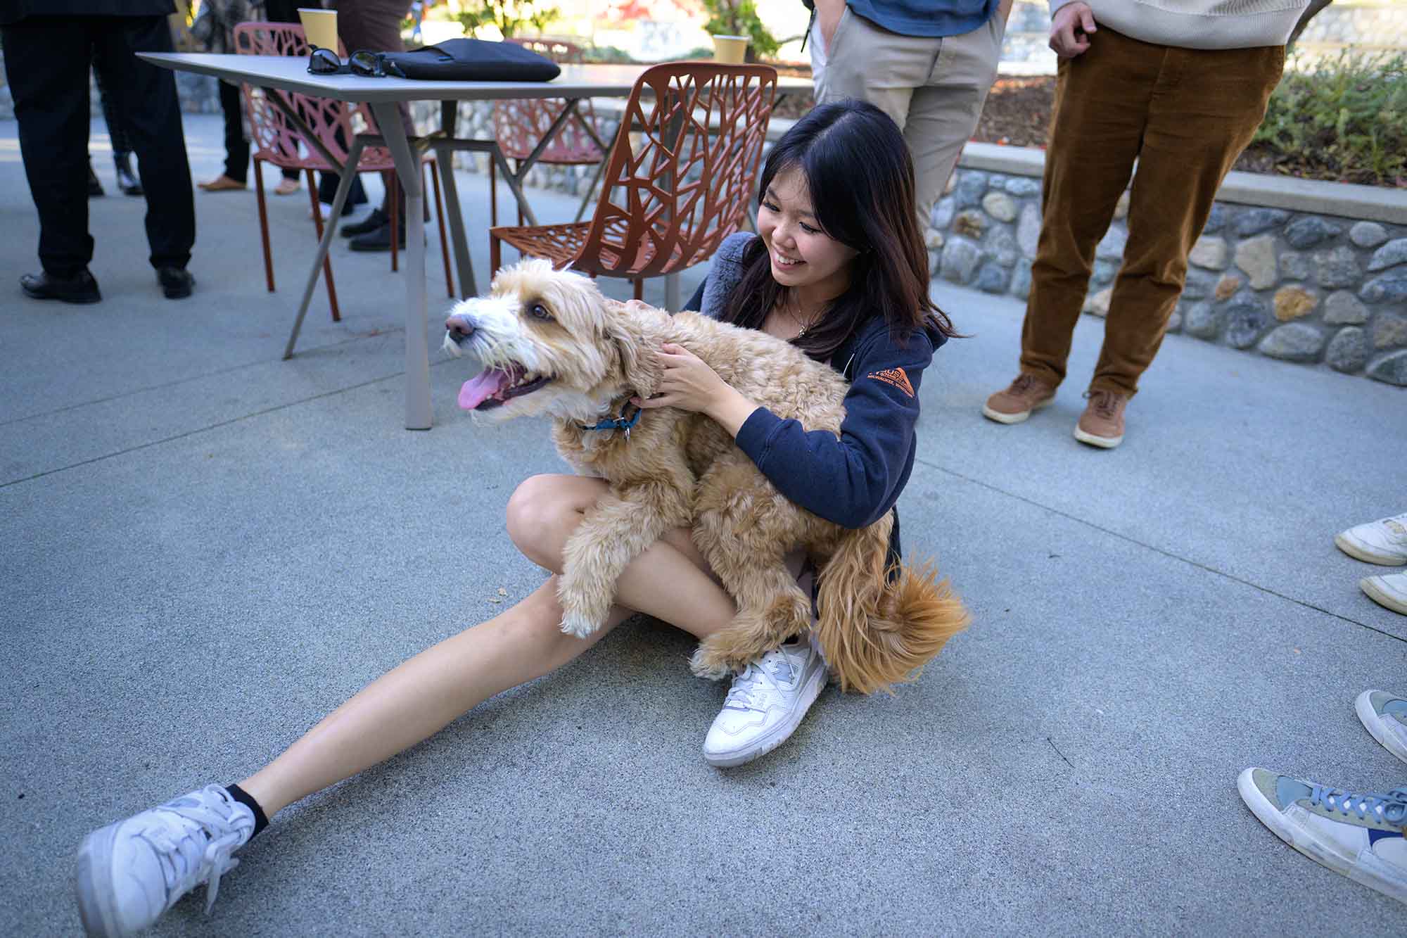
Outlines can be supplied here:
M788 166L772 176L757 208L757 234L767 245L777 283L816 300L834 299L850 286L850 262L860 252L820 230L801 168Z

